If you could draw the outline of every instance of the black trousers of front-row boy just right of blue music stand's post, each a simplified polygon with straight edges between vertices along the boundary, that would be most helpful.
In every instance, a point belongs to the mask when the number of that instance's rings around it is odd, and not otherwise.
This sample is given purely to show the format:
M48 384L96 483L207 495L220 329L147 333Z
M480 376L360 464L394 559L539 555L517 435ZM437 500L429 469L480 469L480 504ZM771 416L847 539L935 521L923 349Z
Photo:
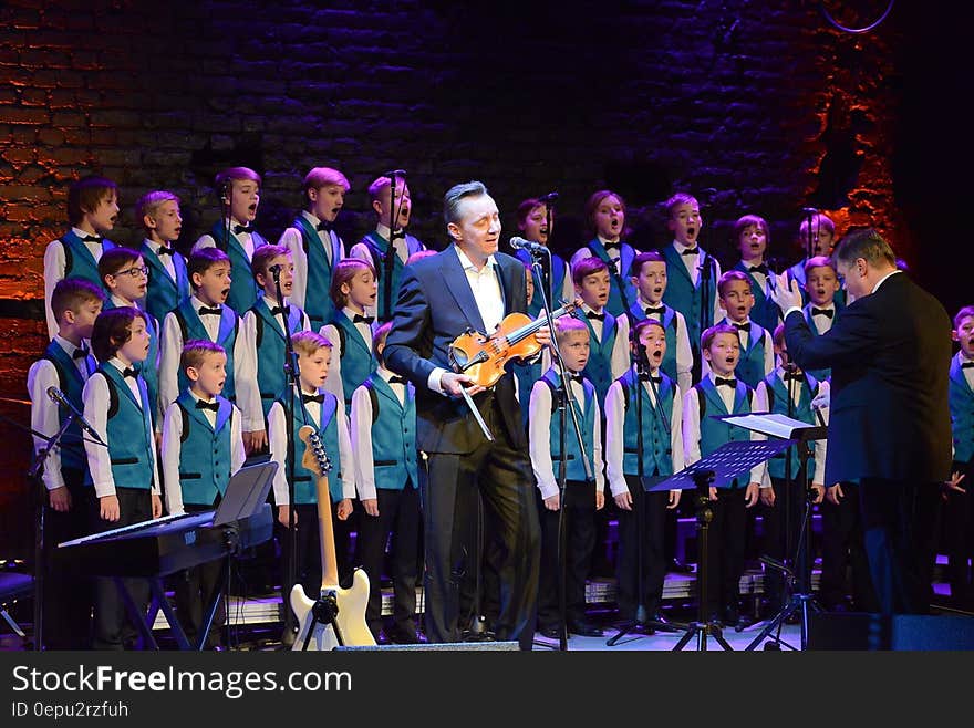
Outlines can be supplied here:
M707 539L706 604L712 614L738 609L747 538L745 491L743 487L717 488L717 500L709 502L714 518Z

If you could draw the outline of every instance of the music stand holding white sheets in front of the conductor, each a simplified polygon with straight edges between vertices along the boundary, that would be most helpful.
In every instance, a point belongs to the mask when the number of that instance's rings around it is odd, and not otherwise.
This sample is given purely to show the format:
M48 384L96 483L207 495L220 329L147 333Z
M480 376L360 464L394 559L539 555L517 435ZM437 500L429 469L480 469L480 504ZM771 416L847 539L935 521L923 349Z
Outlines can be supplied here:
M765 637L775 630L778 630L778 634L774 637L775 643L794 649L791 645L781 639L780 627L785 624L788 617L799 610L801 611L801 649L805 649L808 646L809 610L815 612L822 611L811 595L811 582L809 578L811 570L808 560L808 537L811 521L811 499L809 498L808 489L808 458L811 456L811 453L808 450L808 443L811 440L825 439L828 434L828 428L809 425L800 419L792 419L791 417L780 414L731 415L722 417L722 419L731 425L761 433L770 437L787 438L787 440L779 441L795 443L799 448L799 462L800 468L802 469L802 482L805 485L805 511L801 518L801 530L796 540L796 554L792 560L794 565L789 569L787 565L778 563L774 559L768 559L767 557L761 558L761 561L766 565L769 565L773 569L778 569L783 572L786 580L785 583L787 584L788 590L791 591L791 597L788 603L785 604L764 627L761 627L761 631L750 644L745 647L745 649L755 649L761 644L761 642L764 642ZM798 563L799 560L801 563ZM797 575L795 573L796 571L799 572ZM798 591L795 591L796 583L798 584Z

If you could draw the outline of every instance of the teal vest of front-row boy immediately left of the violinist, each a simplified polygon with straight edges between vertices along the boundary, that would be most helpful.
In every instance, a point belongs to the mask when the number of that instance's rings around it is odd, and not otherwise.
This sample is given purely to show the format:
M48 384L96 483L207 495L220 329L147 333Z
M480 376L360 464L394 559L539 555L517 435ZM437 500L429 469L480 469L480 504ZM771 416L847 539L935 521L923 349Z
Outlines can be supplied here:
M377 373L362 383L372 398L372 467L375 487L403 490L419 485L416 466L416 389L406 384L404 404Z

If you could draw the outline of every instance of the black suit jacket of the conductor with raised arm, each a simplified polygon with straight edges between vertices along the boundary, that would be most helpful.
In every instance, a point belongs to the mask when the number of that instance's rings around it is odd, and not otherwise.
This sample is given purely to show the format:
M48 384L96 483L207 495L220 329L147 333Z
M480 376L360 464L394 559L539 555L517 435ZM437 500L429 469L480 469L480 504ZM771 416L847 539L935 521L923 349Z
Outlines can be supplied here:
M895 273L821 336L792 312L785 341L801 368L832 367L826 485L949 477L951 321L940 301Z

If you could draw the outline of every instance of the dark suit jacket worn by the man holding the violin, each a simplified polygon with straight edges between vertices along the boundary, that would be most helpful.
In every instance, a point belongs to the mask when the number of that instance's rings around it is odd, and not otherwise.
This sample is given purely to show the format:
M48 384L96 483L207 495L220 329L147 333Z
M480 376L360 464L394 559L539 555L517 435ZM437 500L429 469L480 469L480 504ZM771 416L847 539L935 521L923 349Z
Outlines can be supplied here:
M527 311L525 267L516 258L495 253L505 315ZM416 385L416 441L425 453L472 453L485 441L474 415L462 397L446 397L426 385L435 367L453 371L447 355L453 341L467 329L481 333L480 312L454 246L423 258L403 269L392 331L385 342L384 358L390 370ZM515 396L514 377L505 374L494 393L474 401L480 412L486 401L497 397L510 443L527 448L520 405ZM499 436L499 433L494 433Z

